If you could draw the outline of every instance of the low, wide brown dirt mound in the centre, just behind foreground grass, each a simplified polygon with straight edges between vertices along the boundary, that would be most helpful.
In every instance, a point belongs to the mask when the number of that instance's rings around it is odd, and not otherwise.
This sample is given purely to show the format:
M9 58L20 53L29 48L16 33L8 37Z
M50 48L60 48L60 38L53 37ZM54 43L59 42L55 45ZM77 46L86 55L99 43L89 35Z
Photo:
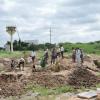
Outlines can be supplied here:
M67 84L67 80L62 75L49 75L45 73L35 73L32 75L31 80L33 84L44 87L58 87Z

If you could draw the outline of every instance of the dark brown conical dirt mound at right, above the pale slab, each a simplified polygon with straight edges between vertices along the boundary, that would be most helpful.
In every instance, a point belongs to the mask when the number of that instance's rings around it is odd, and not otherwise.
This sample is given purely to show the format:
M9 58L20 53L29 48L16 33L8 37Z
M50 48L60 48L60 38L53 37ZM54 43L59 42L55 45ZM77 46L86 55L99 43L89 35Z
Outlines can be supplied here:
M84 67L75 68L68 75L68 84L75 86L75 88L95 86L97 82L97 77Z

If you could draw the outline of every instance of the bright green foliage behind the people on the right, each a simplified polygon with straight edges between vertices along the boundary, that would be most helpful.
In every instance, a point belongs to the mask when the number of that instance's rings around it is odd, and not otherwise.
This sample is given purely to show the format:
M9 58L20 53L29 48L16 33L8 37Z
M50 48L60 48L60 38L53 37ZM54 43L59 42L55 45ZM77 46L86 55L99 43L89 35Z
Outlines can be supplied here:
M85 53L100 54L100 42L93 43L60 43L64 46L65 52L71 52L72 48L81 48ZM59 44L59 45L60 45Z

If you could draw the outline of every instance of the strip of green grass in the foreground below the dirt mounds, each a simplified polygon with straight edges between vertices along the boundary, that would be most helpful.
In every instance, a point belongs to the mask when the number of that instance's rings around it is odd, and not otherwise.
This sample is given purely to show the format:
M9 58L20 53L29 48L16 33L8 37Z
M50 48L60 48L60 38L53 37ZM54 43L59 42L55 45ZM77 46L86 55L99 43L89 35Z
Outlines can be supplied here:
M45 88L42 86L32 86L28 85L26 87L27 91L32 91L33 93L39 93L41 96L47 96L47 95L57 95L67 92L74 92L75 89L71 86L62 86L62 87L56 87L56 88Z

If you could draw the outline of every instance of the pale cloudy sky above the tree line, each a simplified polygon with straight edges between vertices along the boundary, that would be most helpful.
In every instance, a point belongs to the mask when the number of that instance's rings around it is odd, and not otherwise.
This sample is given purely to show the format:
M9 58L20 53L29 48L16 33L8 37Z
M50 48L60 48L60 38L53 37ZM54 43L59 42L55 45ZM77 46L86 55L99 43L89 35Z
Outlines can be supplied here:
M100 40L100 0L0 0L0 46L16 26L13 39L39 43Z

